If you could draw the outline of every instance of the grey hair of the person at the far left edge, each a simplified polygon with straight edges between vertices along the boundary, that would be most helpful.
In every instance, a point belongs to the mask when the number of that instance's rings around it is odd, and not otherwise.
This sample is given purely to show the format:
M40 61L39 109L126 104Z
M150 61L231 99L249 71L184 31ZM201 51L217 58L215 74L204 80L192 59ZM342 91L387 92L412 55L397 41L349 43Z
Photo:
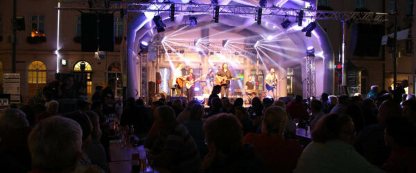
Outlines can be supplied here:
M29 127L29 122L26 119L26 114L19 109L7 109L0 114L0 127L8 130L21 129Z

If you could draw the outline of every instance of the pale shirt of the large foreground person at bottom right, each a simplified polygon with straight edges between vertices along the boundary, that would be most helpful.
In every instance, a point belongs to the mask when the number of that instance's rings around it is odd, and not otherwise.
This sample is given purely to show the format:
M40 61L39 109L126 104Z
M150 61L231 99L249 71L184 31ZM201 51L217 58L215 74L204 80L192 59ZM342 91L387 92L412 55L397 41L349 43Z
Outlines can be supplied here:
M383 171L368 163L352 145L341 140L329 140L326 143L309 143L297 160L297 167L293 172L364 173Z

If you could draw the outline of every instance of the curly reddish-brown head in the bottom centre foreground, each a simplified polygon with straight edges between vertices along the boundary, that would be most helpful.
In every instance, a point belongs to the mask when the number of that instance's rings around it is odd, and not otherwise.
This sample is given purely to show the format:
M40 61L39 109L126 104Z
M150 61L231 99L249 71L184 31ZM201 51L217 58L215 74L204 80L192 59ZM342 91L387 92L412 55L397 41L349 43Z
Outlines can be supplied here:
M243 149L243 131L239 120L228 113L220 113L205 120L202 129L208 149L225 155L236 154ZM214 152L214 151L211 151Z

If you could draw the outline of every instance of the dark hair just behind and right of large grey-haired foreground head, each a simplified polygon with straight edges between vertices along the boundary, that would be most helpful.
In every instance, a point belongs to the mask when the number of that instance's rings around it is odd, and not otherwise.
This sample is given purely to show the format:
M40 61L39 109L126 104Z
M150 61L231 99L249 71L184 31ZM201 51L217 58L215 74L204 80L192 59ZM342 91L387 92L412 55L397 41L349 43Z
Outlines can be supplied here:
M88 116L80 111L73 111L70 113L65 113L64 117L78 122L81 129L83 130L83 150L87 149L89 143L91 142L92 132L92 124Z

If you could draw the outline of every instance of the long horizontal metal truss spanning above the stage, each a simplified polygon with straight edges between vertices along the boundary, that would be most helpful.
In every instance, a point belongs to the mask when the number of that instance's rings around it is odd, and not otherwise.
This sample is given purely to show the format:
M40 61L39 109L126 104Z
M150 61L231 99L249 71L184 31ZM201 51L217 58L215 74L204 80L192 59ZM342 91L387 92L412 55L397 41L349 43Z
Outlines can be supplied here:
M175 12L191 12L196 14L213 14L216 6L219 7L219 15L257 15L261 7L254 6L223 6L205 3L143 3L139 1L109 1L109 5L103 6L105 0L92 1L94 6L89 8L85 0L58 0L59 10L95 10L95 11L119 11L128 12L171 12L171 6L175 6ZM298 17L301 10L304 18L317 20L354 21L358 23L376 24L387 21L388 13L381 12L338 12L321 11L311 9L290 9L270 7L262 8L263 17Z

